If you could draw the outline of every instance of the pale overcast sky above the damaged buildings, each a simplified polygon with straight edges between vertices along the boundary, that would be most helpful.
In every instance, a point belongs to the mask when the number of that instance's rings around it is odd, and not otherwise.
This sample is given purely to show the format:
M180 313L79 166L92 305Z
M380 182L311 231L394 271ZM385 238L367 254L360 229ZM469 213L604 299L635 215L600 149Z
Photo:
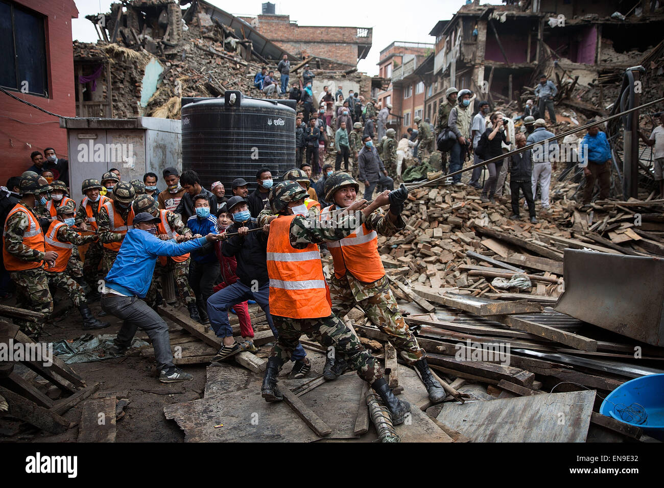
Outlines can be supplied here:
M75 0L78 19L72 20L72 39L82 42L96 42L98 36L86 15L110 12L111 1ZM212 5L234 15L258 15L261 13L261 0L231 2L208 0ZM333 0L314 3L302 0L273 1L276 13L290 15L291 22L298 25L331 25L348 27L373 27L373 44L367 58L358 64L360 71L370 76L378 74L380 50L392 41L431 42L429 35L438 21L451 19L452 15L465 4L465 0L417 0L417 1L373 1ZM496 1L495 3L499 3ZM238 11L238 5L242 5ZM327 9L321 5L329 5ZM266 36L269 39L269 36Z

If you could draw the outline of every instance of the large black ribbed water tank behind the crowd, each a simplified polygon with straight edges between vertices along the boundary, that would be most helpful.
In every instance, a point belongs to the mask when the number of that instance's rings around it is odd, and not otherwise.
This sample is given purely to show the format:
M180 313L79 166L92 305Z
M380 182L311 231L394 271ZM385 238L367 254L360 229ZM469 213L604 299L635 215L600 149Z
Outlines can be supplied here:
M262 167L270 168L278 181L295 167L295 109L288 102L229 91L224 98L183 103L183 170L196 171L208 190L221 181L226 197L238 177L246 179L250 191L255 189L256 171Z

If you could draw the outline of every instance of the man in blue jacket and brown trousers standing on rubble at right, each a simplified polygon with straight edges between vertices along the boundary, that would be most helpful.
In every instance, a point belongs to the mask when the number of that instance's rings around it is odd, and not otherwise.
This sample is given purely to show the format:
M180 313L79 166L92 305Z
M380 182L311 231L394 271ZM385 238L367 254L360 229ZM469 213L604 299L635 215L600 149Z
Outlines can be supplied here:
M595 181L600 182L600 199L608 199L611 189L611 146L606 134L599 125L593 125L581 141L579 159L586 164L586 186L583 190L583 204L590 204L595 191Z

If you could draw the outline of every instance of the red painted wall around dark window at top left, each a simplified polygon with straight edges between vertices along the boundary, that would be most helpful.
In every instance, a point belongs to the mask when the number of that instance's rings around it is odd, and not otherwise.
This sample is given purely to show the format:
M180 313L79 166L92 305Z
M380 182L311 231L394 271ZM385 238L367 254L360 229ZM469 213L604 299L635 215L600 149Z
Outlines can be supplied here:
M73 0L15 0L44 15L48 98L11 92L49 112L76 116L72 20L78 18ZM44 114L0 92L0 151L3 165L0 185L32 166L30 153L54 147L58 157L67 157L67 133L58 118Z

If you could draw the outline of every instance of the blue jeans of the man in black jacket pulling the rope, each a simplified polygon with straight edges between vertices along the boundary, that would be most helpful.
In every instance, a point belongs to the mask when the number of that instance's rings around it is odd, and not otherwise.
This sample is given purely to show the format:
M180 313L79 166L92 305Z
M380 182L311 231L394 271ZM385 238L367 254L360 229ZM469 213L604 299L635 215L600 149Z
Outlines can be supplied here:
M270 284L266 283L257 291L252 291L250 287L240 282L239 280L234 284L220 289L214 295L208 298L208 316L210 317L210 325L214 330L216 337L232 337L233 329L228 322L228 309L237 303L246 300L255 300L256 303L265 312L265 317L274 333L274 337L278 338L279 333L277 328L274 327L272 322L272 315L270 315ZM300 343L297 343L297 348L291 356L291 361L304 359L307 353Z

